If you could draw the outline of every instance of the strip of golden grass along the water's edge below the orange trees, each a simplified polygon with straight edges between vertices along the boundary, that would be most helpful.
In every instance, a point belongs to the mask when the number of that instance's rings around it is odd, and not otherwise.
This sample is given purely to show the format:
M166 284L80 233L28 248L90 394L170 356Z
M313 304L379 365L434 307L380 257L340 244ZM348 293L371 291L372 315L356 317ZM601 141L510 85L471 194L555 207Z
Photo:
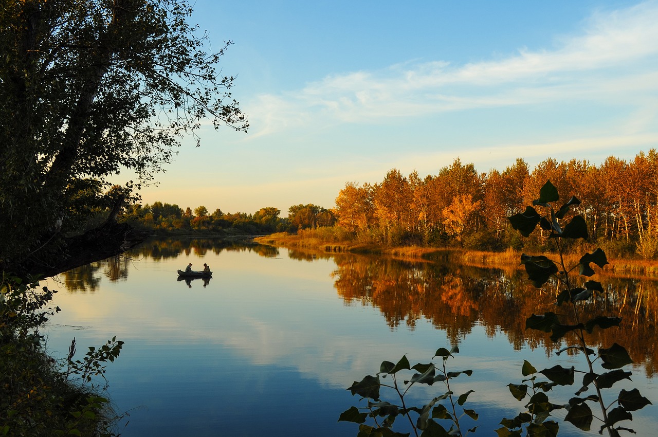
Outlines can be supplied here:
M505 251L480 251L462 247L428 247L418 245L388 246L378 244L360 244L353 241L323 241L316 236L278 232L254 238L259 244L319 251L322 253L353 253L363 255L383 255L406 261L428 263L459 263L472 267L496 267L499 269L523 269L520 257L523 251L508 248ZM594 244L590 252L596 249ZM543 255L551 257L551 253ZM554 255L554 254L553 254ZM557 255L556 255L557 256ZM567 265L576 265L582 253L574 251L567 255ZM620 278L650 277L658 279L658 261L653 259L609 258L609 264L603 267L603 274Z

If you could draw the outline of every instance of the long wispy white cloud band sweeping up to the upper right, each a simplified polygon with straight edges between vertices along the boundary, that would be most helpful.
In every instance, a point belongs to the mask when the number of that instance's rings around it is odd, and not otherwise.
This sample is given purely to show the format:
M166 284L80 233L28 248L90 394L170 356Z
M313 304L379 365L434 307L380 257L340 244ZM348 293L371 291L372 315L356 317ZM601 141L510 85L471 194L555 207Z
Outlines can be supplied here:
M658 90L658 3L594 12L551 49L457 65L438 60L327 76L247 103L252 138L295 126L386 122L466 109L559 101L647 106ZM646 113L646 112L645 112Z

